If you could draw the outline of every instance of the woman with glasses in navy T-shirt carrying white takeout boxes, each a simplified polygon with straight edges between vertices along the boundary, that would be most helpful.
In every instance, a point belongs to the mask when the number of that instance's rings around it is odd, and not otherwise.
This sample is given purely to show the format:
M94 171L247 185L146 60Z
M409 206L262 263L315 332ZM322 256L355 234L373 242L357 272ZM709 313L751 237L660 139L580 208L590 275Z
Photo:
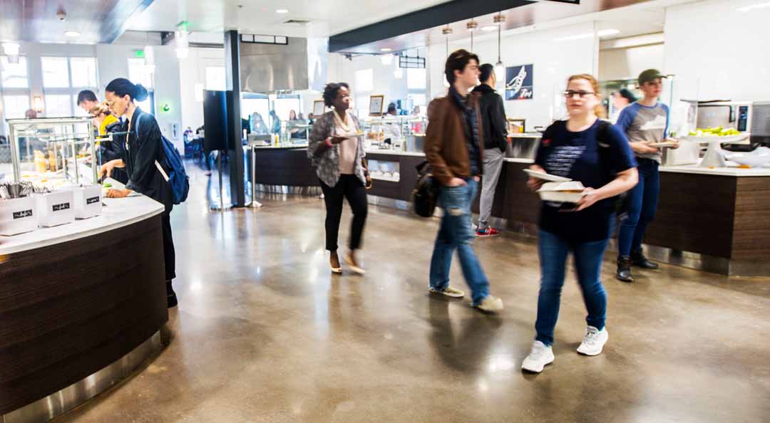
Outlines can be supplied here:
M526 371L539 373L554 361L551 345L570 252L588 309L588 328L577 352L598 355L608 340L604 328L607 295L599 280L601 259L610 237L613 198L633 188L638 175L625 135L597 116L601 108L598 91L598 83L591 75L569 78L564 92L569 117L545 130L535 164L530 167L581 182L585 188L577 204L544 202L541 208L537 336L521 365ZM527 185L537 191L542 183L541 179L530 178Z

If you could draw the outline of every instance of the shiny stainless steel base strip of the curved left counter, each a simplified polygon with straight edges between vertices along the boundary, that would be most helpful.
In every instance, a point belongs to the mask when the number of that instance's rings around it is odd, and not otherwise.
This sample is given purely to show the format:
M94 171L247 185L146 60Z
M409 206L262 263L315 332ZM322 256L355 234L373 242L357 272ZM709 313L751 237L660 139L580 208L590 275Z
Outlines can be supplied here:
M142 345L134 348L133 351L111 365L61 391L0 416L0 423L45 423L51 421L108 390L119 381L128 378L145 361L153 355L159 354L161 350L160 331L157 331L155 335L142 342Z

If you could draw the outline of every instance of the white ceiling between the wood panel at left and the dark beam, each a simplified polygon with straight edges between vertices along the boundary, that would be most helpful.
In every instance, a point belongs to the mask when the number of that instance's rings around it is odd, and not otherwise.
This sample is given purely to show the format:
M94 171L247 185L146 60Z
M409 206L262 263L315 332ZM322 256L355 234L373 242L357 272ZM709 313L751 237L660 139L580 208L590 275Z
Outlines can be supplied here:
M483 1L483 0L480 0ZM155 0L129 20L126 29L173 31L187 21L189 31L328 36L403 15L447 0ZM239 7L242 6L242 7ZM278 14L276 10L288 9ZM285 25L288 19L310 25Z

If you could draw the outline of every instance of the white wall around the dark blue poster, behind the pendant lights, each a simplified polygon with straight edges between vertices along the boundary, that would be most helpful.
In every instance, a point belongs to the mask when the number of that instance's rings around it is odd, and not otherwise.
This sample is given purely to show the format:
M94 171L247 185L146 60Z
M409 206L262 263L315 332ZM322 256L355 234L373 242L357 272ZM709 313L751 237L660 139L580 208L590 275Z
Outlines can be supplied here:
M552 118L562 118L564 98L560 93L566 87L567 78L577 73L596 75L598 72L598 40L591 36L570 41L555 39L593 32L593 23L525 33L504 32L501 48L504 65L534 65L534 98L505 102L507 116L527 119L527 131L536 125L549 125ZM470 49L470 39L449 43L450 52L458 48ZM497 62L497 35L477 38L474 53L479 55L482 63L494 65ZM444 43L430 46L428 60L432 97L447 92L443 75L446 58Z

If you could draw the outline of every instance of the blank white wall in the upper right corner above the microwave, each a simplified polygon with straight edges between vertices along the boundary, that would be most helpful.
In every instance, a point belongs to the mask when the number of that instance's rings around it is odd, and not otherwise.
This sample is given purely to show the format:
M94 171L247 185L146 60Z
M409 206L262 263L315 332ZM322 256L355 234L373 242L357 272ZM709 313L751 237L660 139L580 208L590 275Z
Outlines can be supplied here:
M760 0L711 0L668 8L664 73L674 98L770 100L770 8Z

